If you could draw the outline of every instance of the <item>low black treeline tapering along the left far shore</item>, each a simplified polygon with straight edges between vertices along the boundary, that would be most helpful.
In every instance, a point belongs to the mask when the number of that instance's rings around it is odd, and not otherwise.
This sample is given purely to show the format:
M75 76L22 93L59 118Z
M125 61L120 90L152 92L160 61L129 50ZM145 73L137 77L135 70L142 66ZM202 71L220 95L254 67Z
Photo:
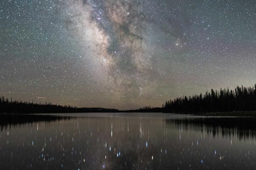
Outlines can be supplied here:
M105 108L77 108L69 105L51 103L38 104L9 100L0 97L0 113L85 113L85 112L117 112L116 109Z

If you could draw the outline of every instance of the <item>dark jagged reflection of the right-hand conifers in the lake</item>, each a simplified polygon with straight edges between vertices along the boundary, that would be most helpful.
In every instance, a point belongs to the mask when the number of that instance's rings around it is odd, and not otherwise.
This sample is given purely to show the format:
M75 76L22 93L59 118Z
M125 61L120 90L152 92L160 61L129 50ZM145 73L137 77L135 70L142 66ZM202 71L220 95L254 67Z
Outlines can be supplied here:
M256 138L255 117L183 118L165 119L165 122L170 127L206 132L213 137L236 136L239 140Z

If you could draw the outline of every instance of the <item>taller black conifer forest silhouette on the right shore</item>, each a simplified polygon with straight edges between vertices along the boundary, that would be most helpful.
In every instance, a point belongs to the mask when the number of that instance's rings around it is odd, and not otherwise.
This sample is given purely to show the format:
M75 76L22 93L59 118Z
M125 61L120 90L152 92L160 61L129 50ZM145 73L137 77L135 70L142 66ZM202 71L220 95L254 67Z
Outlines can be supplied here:
M254 87L239 87L234 90L211 89L205 94L176 98L162 105L167 113L203 113L226 111L255 111L256 84Z

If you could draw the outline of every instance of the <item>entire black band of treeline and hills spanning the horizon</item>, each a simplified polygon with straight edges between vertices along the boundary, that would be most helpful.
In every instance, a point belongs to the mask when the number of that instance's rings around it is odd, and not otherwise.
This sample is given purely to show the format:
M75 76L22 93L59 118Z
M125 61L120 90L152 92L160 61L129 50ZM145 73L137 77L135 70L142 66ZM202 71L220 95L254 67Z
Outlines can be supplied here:
M206 113L230 111L256 111L256 84L253 87L235 89L211 89L204 94L183 96L167 100L161 107L144 106L134 110L114 108L77 108L70 105L52 103L38 104L0 98L2 113L87 113L87 112L163 112L163 113Z

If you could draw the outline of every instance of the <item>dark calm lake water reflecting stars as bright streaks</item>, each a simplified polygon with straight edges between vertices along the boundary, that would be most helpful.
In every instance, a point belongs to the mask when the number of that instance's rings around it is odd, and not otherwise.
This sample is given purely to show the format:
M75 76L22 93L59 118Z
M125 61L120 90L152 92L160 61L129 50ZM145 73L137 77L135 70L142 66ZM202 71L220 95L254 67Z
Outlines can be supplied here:
M256 119L162 113L0 116L0 169L256 169Z

